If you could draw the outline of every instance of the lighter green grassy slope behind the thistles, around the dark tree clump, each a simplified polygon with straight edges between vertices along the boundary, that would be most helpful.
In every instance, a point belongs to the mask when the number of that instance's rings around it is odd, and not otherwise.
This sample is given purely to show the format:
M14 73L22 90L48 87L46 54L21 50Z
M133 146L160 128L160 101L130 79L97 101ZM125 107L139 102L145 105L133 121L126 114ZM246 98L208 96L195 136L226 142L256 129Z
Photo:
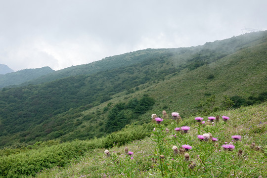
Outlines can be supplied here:
M266 51L267 44L243 49L196 70L185 69L179 75L167 76L164 81L159 81L158 84L144 84L139 91L128 94L128 97L125 96L124 92L118 93L114 99L108 102L127 102L129 98L140 97L143 93L147 93L156 100L156 104L150 112L160 113L167 105L168 108L165 109L167 112L178 111L183 117L196 114L198 103L210 97L205 96L205 93L216 95L217 106L222 105L223 95L241 95L243 97L256 95L267 91ZM262 54L264 52L265 54ZM240 68L240 66L243 67ZM210 74L213 74L215 78L208 80L207 77ZM108 102L84 111L82 117L92 112L96 113L97 110L102 111ZM81 125L78 127L78 131L83 133L90 132L88 131L90 128L93 130L101 128L99 124L105 120L105 114L99 116L100 120L93 119L84 122L83 125L86 127ZM146 120L149 116L150 113L146 113L140 119ZM77 134L78 131L70 134Z

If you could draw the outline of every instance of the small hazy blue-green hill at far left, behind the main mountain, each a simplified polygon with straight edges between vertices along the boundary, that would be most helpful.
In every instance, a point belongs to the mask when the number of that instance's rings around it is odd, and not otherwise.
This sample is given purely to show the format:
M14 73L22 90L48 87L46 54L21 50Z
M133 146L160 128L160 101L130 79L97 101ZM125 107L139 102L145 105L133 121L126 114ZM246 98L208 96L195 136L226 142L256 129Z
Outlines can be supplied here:
M17 72L0 75L0 88L19 85L27 81L34 80L43 75L53 72L50 67L42 67L38 69L24 69Z

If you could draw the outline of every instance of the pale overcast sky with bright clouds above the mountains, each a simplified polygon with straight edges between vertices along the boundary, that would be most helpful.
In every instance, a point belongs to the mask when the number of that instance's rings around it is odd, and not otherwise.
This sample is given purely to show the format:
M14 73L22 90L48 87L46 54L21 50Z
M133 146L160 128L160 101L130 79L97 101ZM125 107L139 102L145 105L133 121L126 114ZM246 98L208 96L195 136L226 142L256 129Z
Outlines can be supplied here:
M267 0L0 0L0 64L54 70L267 30Z

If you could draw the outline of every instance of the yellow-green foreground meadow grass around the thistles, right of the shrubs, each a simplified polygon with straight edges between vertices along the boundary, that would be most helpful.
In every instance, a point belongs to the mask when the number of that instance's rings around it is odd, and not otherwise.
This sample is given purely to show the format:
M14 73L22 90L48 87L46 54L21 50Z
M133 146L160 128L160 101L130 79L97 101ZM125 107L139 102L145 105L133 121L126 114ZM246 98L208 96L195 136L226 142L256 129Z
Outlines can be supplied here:
M171 113L168 113L169 116ZM158 114L160 115L160 113ZM116 162L104 154L105 148L93 149L81 159L74 159L67 168L55 167L43 170L36 174L37 178L120 178L126 177L120 173L134 178L263 178L267 176L267 102L250 107L241 107L231 111L220 111L212 116L228 116L230 119L217 125L199 125L194 117L183 120L179 125L171 119L164 119L163 124L156 125L158 132L142 140L135 140L124 146L114 144L109 149ZM200 116L198 116L200 117ZM207 121L207 117L203 117ZM149 118L148 118L149 119ZM150 120L150 119L149 119ZM174 128L190 126L188 134L172 136ZM165 129L169 128L167 134ZM164 130L163 132L161 130ZM218 142L200 141L198 134L211 132L218 137ZM157 133L157 134L156 134ZM241 135L240 141L234 141L231 135ZM162 137L157 142L153 138ZM222 145L227 142L235 145L232 151L223 150ZM172 146L179 148L182 144L190 144L188 151L190 160L185 161L184 155L174 155ZM255 144L255 146L253 146ZM125 153L125 147L134 152L131 159ZM159 147L162 151L159 151ZM238 151L242 154L238 156ZM160 155L164 159L160 159ZM199 156L198 156L199 155ZM153 162L151 159L157 159ZM193 162L193 163L192 163ZM195 166L194 166L195 164ZM176 166L177 167L176 167ZM179 166L178 166L179 165ZM191 165L190 169L188 165ZM193 166L192 166L193 165ZM162 169L161 169L162 166ZM119 171L118 171L119 170Z

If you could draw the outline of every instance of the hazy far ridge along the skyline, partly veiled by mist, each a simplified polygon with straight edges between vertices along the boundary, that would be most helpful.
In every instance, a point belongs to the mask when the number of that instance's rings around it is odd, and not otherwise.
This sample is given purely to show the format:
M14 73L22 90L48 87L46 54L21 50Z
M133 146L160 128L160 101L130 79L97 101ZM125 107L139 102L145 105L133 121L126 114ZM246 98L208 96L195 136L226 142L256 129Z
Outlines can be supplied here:
M164 57L175 56L173 59L176 68L182 65L194 69L198 66L210 63L214 60L222 58L226 55L234 53L242 48L246 48L257 43L261 43L261 38L265 38L266 31L258 33L244 34L230 39L222 41L215 41L213 43L207 42L205 45L199 45L196 47L183 47L183 48L169 48L169 49L144 49L129 52L125 54L106 57L102 60L95 61L89 64L83 64L78 66L68 67L62 70L54 71L47 75L41 76L32 81L28 81L23 84L27 86L29 84L41 84L45 82L51 82L57 79L63 79L70 76L95 74L97 72L113 70L123 67L128 67L134 64L147 62L154 60L160 60L163 62ZM212 57L212 55L214 55ZM205 57L209 59L204 59ZM186 64L185 64L186 63Z

